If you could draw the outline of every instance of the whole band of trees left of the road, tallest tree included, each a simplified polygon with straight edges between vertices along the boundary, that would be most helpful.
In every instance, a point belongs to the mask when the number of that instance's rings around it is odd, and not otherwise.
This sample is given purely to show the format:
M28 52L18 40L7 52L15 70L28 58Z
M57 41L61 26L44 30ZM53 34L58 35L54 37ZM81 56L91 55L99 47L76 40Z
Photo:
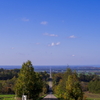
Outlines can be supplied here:
M20 70L1 69L0 72L5 73L5 75L13 72L13 78L11 79L8 77L7 80L3 80L3 77L1 77L0 94L16 94L17 97L22 97L24 94L28 98L35 98L36 100L39 96L48 92L49 86L47 81L49 74L47 72L35 72L30 61L23 63Z

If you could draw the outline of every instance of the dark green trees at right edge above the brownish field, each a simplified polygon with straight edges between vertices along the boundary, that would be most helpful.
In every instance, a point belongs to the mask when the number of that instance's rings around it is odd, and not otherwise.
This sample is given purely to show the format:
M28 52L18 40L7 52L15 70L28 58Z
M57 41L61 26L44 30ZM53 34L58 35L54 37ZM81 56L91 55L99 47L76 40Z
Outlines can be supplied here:
M100 93L100 76L91 73L80 73L79 80L83 91Z

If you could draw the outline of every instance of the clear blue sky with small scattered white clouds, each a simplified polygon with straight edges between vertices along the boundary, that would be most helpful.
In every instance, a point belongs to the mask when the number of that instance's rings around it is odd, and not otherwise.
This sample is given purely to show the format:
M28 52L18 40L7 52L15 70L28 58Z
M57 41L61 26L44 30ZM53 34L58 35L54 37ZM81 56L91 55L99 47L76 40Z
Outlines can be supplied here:
M0 65L100 65L99 0L0 0Z

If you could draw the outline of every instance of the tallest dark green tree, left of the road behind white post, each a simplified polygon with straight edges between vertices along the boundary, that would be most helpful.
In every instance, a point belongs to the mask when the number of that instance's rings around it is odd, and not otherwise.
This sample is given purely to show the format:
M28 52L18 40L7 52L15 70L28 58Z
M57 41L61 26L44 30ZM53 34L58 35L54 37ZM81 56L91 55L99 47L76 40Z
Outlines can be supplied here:
M42 81L39 74L34 72L31 61L23 63L18 76L15 85L17 96L21 97L24 94L29 98L34 98L34 100L36 100L39 93L42 91Z

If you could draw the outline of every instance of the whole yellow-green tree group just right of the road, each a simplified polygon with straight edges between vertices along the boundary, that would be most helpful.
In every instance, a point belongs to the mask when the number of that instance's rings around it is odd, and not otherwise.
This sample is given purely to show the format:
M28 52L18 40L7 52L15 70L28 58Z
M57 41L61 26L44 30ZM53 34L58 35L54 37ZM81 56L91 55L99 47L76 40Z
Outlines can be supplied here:
M56 77L59 76L59 77ZM83 100L83 92L76 72L71 69L63 74L53 75L54 92L63 100ZM55 82L55 80L57 82Z

